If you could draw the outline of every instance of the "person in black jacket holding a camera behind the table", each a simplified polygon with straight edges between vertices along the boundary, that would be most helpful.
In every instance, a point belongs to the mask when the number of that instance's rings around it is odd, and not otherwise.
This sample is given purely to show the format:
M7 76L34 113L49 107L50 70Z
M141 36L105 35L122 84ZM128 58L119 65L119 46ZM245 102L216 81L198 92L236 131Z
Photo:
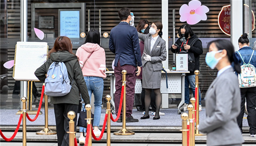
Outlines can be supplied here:
M189 24L183 24L178 30L179 39L171 46L171 52L188 54L189 72L185 76L185 103L182 105L184 111L189 104L189 85L195 97L195 70L199 70L199 56L203 54L202 42L192 31ZM199 89L199 111L202 111L201 92Z

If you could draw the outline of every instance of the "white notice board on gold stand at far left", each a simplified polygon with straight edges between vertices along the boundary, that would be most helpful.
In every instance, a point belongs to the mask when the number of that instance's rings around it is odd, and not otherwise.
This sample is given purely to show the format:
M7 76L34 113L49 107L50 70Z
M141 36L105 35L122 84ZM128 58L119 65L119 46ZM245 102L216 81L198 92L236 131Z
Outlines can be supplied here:
M37 68L47 60L46 42L17 42L13 67L13 78L18 81L39 81Z

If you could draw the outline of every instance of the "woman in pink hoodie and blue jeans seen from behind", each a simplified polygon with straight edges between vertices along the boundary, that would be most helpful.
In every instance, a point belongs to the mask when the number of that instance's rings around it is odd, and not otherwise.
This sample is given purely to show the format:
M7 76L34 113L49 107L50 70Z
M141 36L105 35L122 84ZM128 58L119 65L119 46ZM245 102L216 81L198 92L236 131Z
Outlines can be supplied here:
M99 136L101 131L100 114L103 95L103 79L106 78L106 56L105 50L100 46L100 32L91 29L85 39L85 43L76 51L82 74L84 76L88 93L91 100L91 94L94 94L94 119L93 126L96 136ZM85 111L85 104L82 104L82 110ZM85 137L82 132L86 133L86 128L80 127L79 144L84 145Z

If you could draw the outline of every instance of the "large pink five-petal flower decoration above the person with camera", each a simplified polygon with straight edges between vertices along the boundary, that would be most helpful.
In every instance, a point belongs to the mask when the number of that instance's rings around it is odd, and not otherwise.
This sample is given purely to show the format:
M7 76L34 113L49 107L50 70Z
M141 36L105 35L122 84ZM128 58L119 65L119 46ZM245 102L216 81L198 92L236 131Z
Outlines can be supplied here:
M207 6L202 5L199 0L191 0L189 5L183 4L180 7L180 21L187 21L188 24L197 24L201 20L206 20L206 13L209 12Z

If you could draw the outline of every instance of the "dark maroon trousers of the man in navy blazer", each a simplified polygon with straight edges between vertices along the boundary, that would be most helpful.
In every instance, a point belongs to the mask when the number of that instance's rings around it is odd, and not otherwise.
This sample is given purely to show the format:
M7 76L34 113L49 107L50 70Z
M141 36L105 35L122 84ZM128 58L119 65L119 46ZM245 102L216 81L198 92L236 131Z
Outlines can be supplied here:
M122 70L126 70L126 116L130 117L132 114L132 107L134 101L135 93L135 82L136 82L136 67L132 65L125 64L120 66L118 61L117 67L115 67L115 111L118 112L120 98L121 98L121 88L122 88ZM121 113L122 114L122 113Z

